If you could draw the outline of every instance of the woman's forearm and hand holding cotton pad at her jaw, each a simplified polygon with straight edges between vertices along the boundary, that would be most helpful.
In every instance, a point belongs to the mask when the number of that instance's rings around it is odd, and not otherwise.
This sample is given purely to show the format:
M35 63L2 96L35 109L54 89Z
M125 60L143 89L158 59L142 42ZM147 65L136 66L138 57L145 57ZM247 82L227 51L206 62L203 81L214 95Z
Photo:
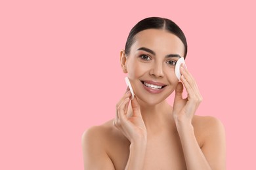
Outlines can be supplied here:
M146 126L143 122L140 105L137 97L131 101L131 92L126 92L125 95L116 105L116 119L114 126L116 126L125 137L131 142L130 154L125 170L141 170L144 166L144 157L146 153L147 133ZM131 101L133 114L127 115L128 105Z

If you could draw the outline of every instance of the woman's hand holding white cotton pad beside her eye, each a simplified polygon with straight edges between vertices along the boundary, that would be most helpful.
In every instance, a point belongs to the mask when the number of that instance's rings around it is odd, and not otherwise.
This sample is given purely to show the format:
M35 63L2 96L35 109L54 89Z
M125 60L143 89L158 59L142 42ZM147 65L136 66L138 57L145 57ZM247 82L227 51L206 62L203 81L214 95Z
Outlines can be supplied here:
M181 74L181 82L184 84L186 92L188 92L188 97L182 99L183 84L179 82L175 90L173 118L176 123L184 121L191 123L196 109L198 109L202 101L202 96L198 90L196 80L188 72L184 64L181 65Z

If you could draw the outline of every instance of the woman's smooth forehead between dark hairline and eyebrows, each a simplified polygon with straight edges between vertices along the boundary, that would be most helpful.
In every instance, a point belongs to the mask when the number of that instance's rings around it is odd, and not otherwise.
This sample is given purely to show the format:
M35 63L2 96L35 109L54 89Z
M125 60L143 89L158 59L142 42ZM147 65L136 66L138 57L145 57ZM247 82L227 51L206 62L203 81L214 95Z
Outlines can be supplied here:
M184 44L181 39L164 29L145 29L137 33L131 51L135 52L140 47L150 48L156 54L179 54L184 56Z

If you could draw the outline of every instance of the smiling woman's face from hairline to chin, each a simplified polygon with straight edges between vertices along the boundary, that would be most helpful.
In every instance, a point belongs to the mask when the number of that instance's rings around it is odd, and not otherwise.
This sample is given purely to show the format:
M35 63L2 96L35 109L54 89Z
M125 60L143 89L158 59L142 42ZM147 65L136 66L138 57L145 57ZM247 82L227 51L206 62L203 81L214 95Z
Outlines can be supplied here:
M146 29L137 33L124 62L137 97L149 105L166 99L179 82L175 64L183 55L184 45L172 33L163 29Z

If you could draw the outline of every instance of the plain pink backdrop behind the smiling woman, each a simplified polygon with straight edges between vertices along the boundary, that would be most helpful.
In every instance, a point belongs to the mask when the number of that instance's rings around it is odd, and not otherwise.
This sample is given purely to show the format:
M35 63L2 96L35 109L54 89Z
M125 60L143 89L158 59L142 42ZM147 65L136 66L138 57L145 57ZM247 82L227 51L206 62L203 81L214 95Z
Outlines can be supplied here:
M81 135L114 117L119 51L148 16L184 31L197 114L223 122L227 169L256 169L252 2L1 1L0 169L83 169Z

